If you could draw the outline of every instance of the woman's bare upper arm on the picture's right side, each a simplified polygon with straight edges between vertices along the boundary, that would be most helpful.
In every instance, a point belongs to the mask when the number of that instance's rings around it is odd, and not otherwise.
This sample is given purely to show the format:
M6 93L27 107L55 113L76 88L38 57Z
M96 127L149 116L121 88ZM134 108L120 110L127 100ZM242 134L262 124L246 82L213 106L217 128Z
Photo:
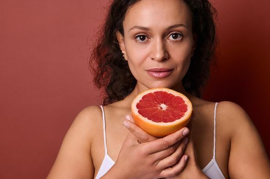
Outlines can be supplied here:
M237 104L221 102L221 117L230 129L230 178L270 178L270 164L259 133ZM229 119L229 120L228 120Z

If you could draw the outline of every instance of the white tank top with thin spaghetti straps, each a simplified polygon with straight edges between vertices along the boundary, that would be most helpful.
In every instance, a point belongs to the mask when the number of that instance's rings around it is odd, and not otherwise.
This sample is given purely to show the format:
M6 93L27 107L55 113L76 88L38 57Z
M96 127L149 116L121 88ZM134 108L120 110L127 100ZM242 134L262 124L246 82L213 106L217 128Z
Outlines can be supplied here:
M209 178L213 179L225 179L222 171L219 168L219 165L216 161L216 112L217 112L217 105L215 104L215 111L214 111L214 149L213 149L213 159L202 169L205 175L207 175ZM97 176L95 176L95 179L99 179L101 176L103 176L113 165L114 161L110 158L107 151L107 143L106 143L106 123L105 123L105 113L103 106L100 106L102 110L102 119L103 119L103 137L104 137L104 148L105 148L105 155L104 159L102 161L102 164L100 166L99 172Z

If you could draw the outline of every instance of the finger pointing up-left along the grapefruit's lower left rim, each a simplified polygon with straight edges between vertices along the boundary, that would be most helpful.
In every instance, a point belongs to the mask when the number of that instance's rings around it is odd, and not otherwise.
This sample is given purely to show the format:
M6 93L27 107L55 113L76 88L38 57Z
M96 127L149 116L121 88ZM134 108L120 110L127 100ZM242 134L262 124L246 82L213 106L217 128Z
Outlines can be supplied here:
M126 119L127 119L127 117L126 117ZM131 133L133 133L134 136L136 136L137 140L140 143L145 143L145 142L149 142L149 141L153 141L153 140L156 140L157 139L156 137L153 137L153 136L149 135L148 133L146 133L143 129L141 129L140 127L138 127L136 124L134 124L130 120L125 120L124 123L123 123L123 125Z

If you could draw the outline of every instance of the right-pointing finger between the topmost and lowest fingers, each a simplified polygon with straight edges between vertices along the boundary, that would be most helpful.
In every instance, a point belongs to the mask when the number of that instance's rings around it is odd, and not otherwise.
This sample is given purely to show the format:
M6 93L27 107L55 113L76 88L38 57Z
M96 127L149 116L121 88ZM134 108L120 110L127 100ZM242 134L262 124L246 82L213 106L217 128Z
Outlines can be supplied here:
M181 141L181 144L179 145L179 147L176 149L175 152L173 152L171 155L167 156L157 164L158 167L167 168L177 164L184 153L187 143L188 138L186 137Z

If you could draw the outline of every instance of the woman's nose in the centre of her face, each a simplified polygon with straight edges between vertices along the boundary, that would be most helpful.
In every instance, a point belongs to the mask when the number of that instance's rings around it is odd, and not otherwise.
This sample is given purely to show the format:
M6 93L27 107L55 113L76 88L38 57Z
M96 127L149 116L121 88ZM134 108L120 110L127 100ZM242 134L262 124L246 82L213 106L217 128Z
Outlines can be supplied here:
M150 58L156 61L163 61L169 58L169 54L162 39L156 39L152 42Z

